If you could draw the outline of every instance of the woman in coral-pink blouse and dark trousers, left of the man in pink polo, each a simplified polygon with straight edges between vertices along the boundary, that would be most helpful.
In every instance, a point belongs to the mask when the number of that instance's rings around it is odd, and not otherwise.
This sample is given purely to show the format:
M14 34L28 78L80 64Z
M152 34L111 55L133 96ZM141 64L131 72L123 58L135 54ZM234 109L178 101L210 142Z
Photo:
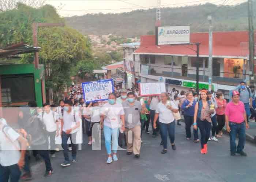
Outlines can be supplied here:
M222 128L225 126L225 109L227 105L226 99L223 98L223 93L218 92L216 94L216 101L218 108L216 109L218 127L216 131L216 137L222 137Z

